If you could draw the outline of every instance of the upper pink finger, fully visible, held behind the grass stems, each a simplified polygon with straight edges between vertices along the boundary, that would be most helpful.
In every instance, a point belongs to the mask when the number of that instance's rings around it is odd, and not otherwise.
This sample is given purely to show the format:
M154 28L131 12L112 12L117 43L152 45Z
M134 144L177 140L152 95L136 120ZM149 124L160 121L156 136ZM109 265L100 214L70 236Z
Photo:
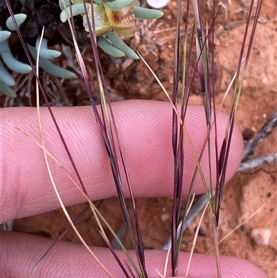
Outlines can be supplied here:
M172 196L172 107L170 103L158 101L124 101L113 103L120 145L125 164L136 197ZM62 130L75 165L86 186L91 200L116 196L109 159L102 144L98 125L91 107L55 107L57 123ZM37 110L30 107L6 108L1 111L2 156L1 156L1 222L22 218L60 207L48 176L42 149L24 136L20 128L39 141ZM47 150L54 155L77 180L64 146L46 108L41 110L42 132ZM227 116L218 114L217 135L222 144ZM17 128L16 128L17 127ZM204 108L190 105L186 116L186 127L197 154L206 139ZM213 140L214 131L211 133ZM184 194L188 191L195 169L195 160L188 144L185 144ZM226 181L235 173L243 151L242 135L237 125L233 131ZM212 155L214 150L212 150ZM64 201L64 205L84 202L75 185L50 159L51 171ZM121 166L121 173L123 167ZM202 168L208 180L208 158L205 152ZM212 161L215 173L215 162ZM123 180L123 189L127 186ZM204 192L202 181L197 176L194 190Z

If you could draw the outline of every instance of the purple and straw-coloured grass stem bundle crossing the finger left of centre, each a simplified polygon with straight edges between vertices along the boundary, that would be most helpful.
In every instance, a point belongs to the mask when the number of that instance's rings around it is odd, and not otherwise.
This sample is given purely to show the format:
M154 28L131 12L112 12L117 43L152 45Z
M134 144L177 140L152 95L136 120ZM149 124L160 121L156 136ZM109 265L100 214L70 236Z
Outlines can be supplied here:
M116 191L118 192L118 198L120 200L120 204L121 204L121 207L123 209L123 214L125 216L125 220L126 220L126 223L127 223L127 227L129 229L129 233L131 234L134 249L136 250L136 256L137 256L137 259L138 259L138 262L139 262L139 268L140 268L141 273L139 273L137 271L136 272L140 277L148 277L147 272L146 272L146 268L145 268L143 242L142 242L142 238L141 238L141 230L140 230L140 227L139 227L139 218L138 218L137 212L136 212L136 204L135 204L134 196L133 196L133 193L132 193L132 186L131 186L130 181L129 181L129 177L128 177L128 174L127 174L127 168L125 166L125 162L124 162L124 159L123 159L123 154L122 154L122 151L121 151L121 148L120 148L118 133L116 131L116 124L115 124L115 121L114 121L114 116L112 114L112 109L111 109L111 105L110 105L110 102L109 102L109 94L107 92L107 86L105 85L105 76L102 72L99 56L98 56L98 53L97 53L93 5L91 5L91 9L92 9L92 22L93 22L93 24L92 24L92 26L90 26L90 21L89 20L88 20L88 24L89 24L89 33L90 33L90 37L91 37L91 46L92 46L92 49L93 49L94 59L96 61L96 71L97 71L98 84L99 84L99 89L100 89L102 118L101 118L100 114L98 113L98 110L96 108L95 103L93 102L91 89L89 87L89 77L88 77L88 74L87 74L86 67L84 65L84 61L82 59L82 55L80 54L80 50L78 48L77 41L74 40L74 32L73 32L73 24L72 24L71 30L72 30L73 41L74 41L74 45L75 45L75 51L76 51L76 55L78 57L78 62L80 64L80 68L81 68L81 71L82 71L84 83L86 85L87 92L89 93L91 106L93 108L94 115L96 116L96 121L98 122L98 125L99 125L99 128L100 128L100 134L101 134L102 139L104 141L105 148L107 150L107 155L109 156L109 159L110 159L111 170L112 170L112 173L113 173L113 176L114 176L114 181L115 181L115 184L116 184ZM88 13L87 13L87 8L86 8L85 4L84 4L84 10L85 10L85 15L86 15L87 19L89 19L88 18ZM69 17L69 15L67 15L67 16ZM114 128L114 130L116 132L115 137L114 137L114 134L113 134L112 127ZM130 196L131 196L131 199L132 199L132 209L133 209L133 212L134 212L134 218L135 218L135 222L136 222L136 238L138 240L138 243L136 243L135 236L132 232L132 224L131 224L131 220L129 218L127 204L125 202L125 194L123 193L122 178L121 178L121 174L120 174L120 171L119 171L118 155L116 153L116 142L114 141L114 138L116 138L117 144L119 146L120 160L123 163L125 177L127 179L129 193L130 193ZM103 231L102 231L102 234L104 234ZM109 245L109 247L111 248L111 245ZM115 254L115 253L113 252L113 254ZM123 265L121 264L120 267L123 267ZM123 271L125 272L124 269L123 269Z

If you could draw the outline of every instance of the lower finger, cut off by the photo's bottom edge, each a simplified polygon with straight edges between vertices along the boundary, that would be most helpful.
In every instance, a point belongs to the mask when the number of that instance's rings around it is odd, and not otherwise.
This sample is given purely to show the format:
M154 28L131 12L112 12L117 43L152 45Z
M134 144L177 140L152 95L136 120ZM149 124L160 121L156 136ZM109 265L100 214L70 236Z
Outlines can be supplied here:
M0 270L3 277L28 277L37 261L54 242L49 238L30 236L17 232L1 232L2 254ZM24 250L24 252L18 252ZM123 272L111 252L104 247L91 247L96 257L104 264L114 277L123 277ZM122 250L116 250L120 261L127 261ZM129 251L136 258L134 250ZM145 264L150 278L160 278L157 270L163 273L167 251L145 250ZM178 275L186 274L189 254L181 252L179 256ZM235 257L220 257L222 277L224 278L268 278L260 268L245 259ZM170 277L170 262L167 277ZM53 273L55 275L53 276ZM6 275L5 275L6 274ZM37 277L107 277L89 252L78 243L61 241L44 258L37 269ZM188 271L189 277L217 277L217 267L214 255L193 254Z

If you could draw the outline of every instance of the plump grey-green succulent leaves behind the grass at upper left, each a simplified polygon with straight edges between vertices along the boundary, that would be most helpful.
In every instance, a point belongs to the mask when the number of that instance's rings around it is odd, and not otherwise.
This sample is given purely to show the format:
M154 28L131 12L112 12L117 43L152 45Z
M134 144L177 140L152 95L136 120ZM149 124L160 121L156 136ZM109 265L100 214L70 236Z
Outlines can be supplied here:
M68 20L68 17L75 15L84 15L85 9L84 4L81 0L73 0L73 4L70 3L70 0L60 0L59 5L62 10L60 19L62 22ZM102 10L105 11L104 5L106 8L109 8L111 11L118 12L124 8L134 4L134 16L140 17L143 19L157 19L163 16L163 12L160 10L150 10L146 8L141 8L136 6L136 1L134 0L116 0L116 1L105 1L105 4L102 0L94 0L94 5L102 6ZM86 3L87 9L89 9L89 3ZM66 9L64 9L66 8ZM71 15L72 11L72 15ZM17 25L20 26L26 19L26 15L21 13L14 15L14 19L17 22ZM6 26L10 31L17 30L12 17L9 17L6 21ZM32 67L29 64L24 64L19 62L15 57L13 57L10 46L8 45L8 37L11 33L9 31L2 31L0 27L0 92L6 94L6 96L16 97L17 94L11 88L15 85L15 80L12 75L8 72L8 69L15 71L17 73L29 73L32 71ZM37 59L37 49L39 46L40 37L37 37L36 47L28 45L28 50L32 55L33 59ZM54 76L60 78L71 78L75 76L75 73L62 69L57 65L49 61L49 59L57 58L61 55L59 51L48 49L48 41L42 39L40 51L39 51L39 67L44 69L44 71L53 74ZM139 59L139 56L129 47L120 36L116 33L116 30L113 29L113 26L109 28L104 35L98 37L98 46L105 51L107 54L115 57L123 57L127 55L132 59ZM2 62L3 61L3 62Z

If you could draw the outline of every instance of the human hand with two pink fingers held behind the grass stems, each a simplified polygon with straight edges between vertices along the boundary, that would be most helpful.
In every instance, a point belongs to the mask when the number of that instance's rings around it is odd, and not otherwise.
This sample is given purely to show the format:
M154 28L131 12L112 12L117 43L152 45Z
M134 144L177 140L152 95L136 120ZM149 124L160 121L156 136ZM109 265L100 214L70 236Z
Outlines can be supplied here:
M172 196L170 104L155 101L125 101L114 103L113 111L134 195ZM41 112L47 150L75 178L48 111L42 108ZM109 159L91 107L55 107L53 112L86 185L89 198L101 200L116 196ZM15 128L15 126L21 128L39 141L36 109L6 108L1 110L1 114L1 223L57 209L59 203L46 171L42 150ZM206 137L204 108L190 105L186 119L188 132L199 153ZM227 116L220 113L217 119L219 142L224 138L226 120ZM230 180L240 164L242 150L242 136L239 128L235 126L226 181ZM184 194L188 192L195 168L193 155L188 146L185 146L185 157ZM205 159L204 155L203 161ZM207 178L208 166L203 164L202 167ZM51 162L51 170L65 205L85 202L78 189L54 162ZM202 182L197 178L195 193L202 192L204 192ZM125 193L127 195L127 188ZM1 232L1 277L28 277L37 260L51 243L53 241L48 238L17 232ZM124 276L107 248L91 248L114 277ZM122 251L118 250L117 253L120 258L125 258ZM131 254L134 255L134 252ZM165 251L145 250L149 277L159 277L156 269L163 271L165 259ZM179 275L184 275L188 254L182 252L179 259ZM221 266L224 278L267 277L262 270L243 259L222 256ZM211 255L194 254L189 275L216 277L215 258ZM107 275L82 245L62 241L46 257L35 277L107 277Z

